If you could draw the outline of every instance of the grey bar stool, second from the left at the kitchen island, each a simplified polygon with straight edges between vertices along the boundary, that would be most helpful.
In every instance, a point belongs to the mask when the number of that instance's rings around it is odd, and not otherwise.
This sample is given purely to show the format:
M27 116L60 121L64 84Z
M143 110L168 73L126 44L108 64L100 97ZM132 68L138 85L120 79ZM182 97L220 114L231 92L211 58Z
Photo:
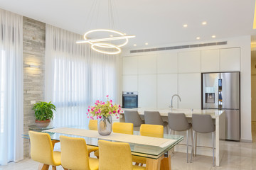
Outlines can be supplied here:
M149 125L162 125L166 127L166 132L168 134L168 123L164 122L158 111L144 111L145 124Z

